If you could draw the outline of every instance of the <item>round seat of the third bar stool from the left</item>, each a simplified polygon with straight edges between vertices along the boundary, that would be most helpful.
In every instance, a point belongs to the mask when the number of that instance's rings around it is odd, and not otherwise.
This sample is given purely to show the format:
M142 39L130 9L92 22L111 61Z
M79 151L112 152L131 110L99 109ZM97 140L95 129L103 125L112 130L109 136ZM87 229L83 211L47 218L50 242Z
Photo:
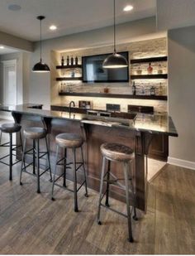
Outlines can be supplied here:
M81 147L83 144L83 138L74 133L60 133L55 141L60 147Z

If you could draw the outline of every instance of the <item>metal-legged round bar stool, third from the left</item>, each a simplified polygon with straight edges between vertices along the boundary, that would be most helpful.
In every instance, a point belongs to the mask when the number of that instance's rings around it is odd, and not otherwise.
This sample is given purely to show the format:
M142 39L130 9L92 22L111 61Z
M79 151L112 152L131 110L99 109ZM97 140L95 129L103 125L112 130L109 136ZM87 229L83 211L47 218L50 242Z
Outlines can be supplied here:
M85 196L88 197L87 176L86 176L86 171L85 171L85 167L84 167L84 159L83 159L83 147L82 147L83 146L83 138L74 133L60 133L59 135L57 135L55 137L55 142L57 143L57 146L56 146L56 157L55 157L55 173L54 173L54 178L53 178L51 199L55 200L54 186L59 186L59 187L64 188L65 190L74 192L74 211L78 212L77 193L83 185L85 185ZM58 161L59 147L64 148L64 157ZM76 149L77 148L80 148L80 150L81 150L82 162L76 162ZM67 157L66 157L67 149L72 149L73 162L67 163ZM61 161L64 161L64 173L55 179L57 165L60 165ZM70 168L69 165L73 165L73 168L74 168L74 190L71 190L66 186L66 168ZM78 165L78 167L77 167L77 165ZM80 167L83 167L84 181L81 183L81 185L79 187L77 187L77 171L78 171L78 169L80 169ZM64 186L60 186L59 184L56 183L56 181L58 181L61 176L64 176Z

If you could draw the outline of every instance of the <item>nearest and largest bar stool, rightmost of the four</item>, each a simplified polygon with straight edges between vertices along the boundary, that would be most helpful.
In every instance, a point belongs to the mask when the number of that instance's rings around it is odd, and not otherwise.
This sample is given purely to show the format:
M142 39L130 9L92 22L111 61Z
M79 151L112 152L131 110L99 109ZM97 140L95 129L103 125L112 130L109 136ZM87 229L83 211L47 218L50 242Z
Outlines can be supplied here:
M135 154L133 150L130 147L126 147L121 144L117 143L104 143L100 147L103 160L102 160L102 174L101 174L101 182L100 182L100 194L99 194L99 202L98 202L98 217L97 222L98 225L101 225L100 221L100 211L101 206L106 207L108 210L112 210L116 212L117 214L123 215L127 218L128 223L128 233L129 233L129 241L133 242L133 236L132 236L132 229L131 229L131 210L130 210L130 192L131 196L133 198L133 210L134 210L134 220L137 220L136 218L136 195L134 193L134 186L132 182L132 162L135 159ZM107 164L107 172L105 173L106 168L106 160L108 161ZM125 186L121 184L117 176L114 176L111 172L111 162L121 162L123 165L124 170L124 176L125 176ZM129 173L130 171L130 173ZM105 176L107 176L107 179L105 179ZM110 177L112 176L112 180ZM120 179L121 180L121 179ZM130 181L130 186L129 186ZM104 193L102 193L103 190L103 183L106 182L107 189ZM112 209L109 205L109 185L115 184L119 186L121 189L126 191L126 212L127 215L124 215L118 210ZM102 204L102 199L106 195L106 203L105 205Z

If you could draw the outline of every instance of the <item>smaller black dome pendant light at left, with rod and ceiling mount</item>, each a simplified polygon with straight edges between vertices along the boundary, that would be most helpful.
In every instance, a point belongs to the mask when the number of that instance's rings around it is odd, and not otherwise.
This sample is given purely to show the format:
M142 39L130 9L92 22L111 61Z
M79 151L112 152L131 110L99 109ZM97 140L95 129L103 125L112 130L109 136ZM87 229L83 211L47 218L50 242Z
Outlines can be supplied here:
M37 72L37 73L48 73L48 72L50 72L49 66L42 62L41 21L43 19L45 19L45 17L44 16L38 16L36 18L37 18L37 20L40 21L40 62L38 62L38 63L36 63L36 65L34 65L32 71Z

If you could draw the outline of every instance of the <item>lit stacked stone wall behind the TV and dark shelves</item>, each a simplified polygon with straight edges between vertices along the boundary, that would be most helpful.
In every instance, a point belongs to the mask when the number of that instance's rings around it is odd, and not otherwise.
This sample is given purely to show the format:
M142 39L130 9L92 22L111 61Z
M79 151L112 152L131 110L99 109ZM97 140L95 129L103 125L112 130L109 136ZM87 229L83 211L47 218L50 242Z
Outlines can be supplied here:
M167 56L167 39L159 38L154 40L147 41L135 41L128 44L123 44L117 46L117 51L128 51L129 52L129 60L131 59L140 59L140 58L150 58L155 56ZM74 58L78 56L78 64L81 63L82 56L92 56L98 54L105 54L112 52L112 46L104 46L99 48L91 48L80 51L69 51L69 52L61 52L59 57L64 56L64 60L66 60L67 56L69 58L73 56ZM64 65L66 64L66 61ZM156 62L152 63L153 73L157 74L157 70L161 65L161 68L164 74L167 73L167 62ZM136 70L138 68L142 70L142 75L147 74L148 64L134 64L129 65L129 72L131 75L137 75ZM58 76L70 76L72 70L57 70L55 72ZM82 75L81 70L75 69L76 76ZM150 87L155 86L155 93L166 95L168 80L135 80L136 82L136 93L137 94L150 94ZM103 93L104 88L107 87L109 92L108 94L131 94L132 93L132 80L129 83L101 83L101 84L86 84L82 81L63 81L55 83L58 89L63 89L64 91L69 92L77 92L77 93ZM88 97L70 97L70 96L56 96L60 97L58 102L61 104L68 104L69 100L74 99L75 103L78 104L78 100L92 100L94 108L105 108L106 103L111 104L121 104L121 110L127 110L127 104L140 104L140 105L152 105L155 108L156 112L167 112L167 102L162 100L145 100L145 99L111 99L111 98L93 98L89 99ZM53 102L53 100L51 100ZM56 100L55 100L56 102Z

